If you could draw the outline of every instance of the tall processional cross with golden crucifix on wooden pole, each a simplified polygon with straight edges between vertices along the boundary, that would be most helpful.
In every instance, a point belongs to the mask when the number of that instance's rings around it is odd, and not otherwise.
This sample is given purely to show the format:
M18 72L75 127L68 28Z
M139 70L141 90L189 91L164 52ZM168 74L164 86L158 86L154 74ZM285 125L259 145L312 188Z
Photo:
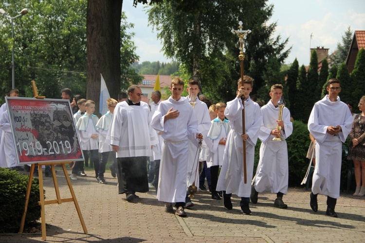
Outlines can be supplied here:
M239 36L239 55L238 58L240 60L241 63L241 85L243 82L243 60L245 59L245 56L243 54L243 40L246 39L246 35L251 33L251 30L242 30L242 21L238 22L239 26L238 26L238 30L234 30L232 29L232 33L236 33ZM245 129L245 103L244 101L242 101L243 103L243 109L242 109L242 134L244 134L244 132L246 132ZM244 183L247 184L247 168L246 168L246 141L243 141L243 173L244 173Z

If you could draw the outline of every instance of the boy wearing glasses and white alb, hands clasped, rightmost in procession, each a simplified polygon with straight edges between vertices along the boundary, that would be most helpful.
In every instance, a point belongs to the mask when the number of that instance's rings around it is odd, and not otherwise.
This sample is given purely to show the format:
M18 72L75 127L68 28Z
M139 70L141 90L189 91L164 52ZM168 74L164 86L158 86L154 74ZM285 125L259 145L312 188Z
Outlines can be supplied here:
M317 195L326 195L326 215L337 218L334 208L340 197L342 143L351 131L352 115L338 96L340 81L330 79L326 89L329 94L314 104L308 120L308 130L316 138L310 207L316 212Z

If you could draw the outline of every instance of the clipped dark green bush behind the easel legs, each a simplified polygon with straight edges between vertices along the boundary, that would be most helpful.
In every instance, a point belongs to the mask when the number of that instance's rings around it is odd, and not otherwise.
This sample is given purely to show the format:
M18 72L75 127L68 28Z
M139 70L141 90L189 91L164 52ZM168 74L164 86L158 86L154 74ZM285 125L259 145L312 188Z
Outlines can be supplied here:
M0 233L19 232L28 180L28 175L20 174L16 170L0 168ZM39 181L33 178L24 228L40 219L38 201Z

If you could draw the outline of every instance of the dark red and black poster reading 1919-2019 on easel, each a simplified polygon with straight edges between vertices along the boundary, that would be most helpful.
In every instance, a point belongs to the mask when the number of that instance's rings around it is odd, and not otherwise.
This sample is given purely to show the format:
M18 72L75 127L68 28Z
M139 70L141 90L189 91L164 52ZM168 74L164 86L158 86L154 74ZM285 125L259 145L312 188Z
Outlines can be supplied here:
M69 100L5 97L18 165L83 161Z

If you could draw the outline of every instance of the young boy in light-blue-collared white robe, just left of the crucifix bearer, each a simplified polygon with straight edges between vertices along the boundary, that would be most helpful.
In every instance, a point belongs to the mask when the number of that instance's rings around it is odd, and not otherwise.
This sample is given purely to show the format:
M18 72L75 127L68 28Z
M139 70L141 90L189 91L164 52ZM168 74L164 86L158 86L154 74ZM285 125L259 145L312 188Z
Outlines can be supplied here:
M223 155L226 145L228 133L231 131L229 121L225 119L224 110L226 104L219 102L216 104L216 113L218 117L212 120L212 125L208 131L206 139L207 146L209 146L210 159L207 161L207 167L210 168L211 176L211 192L212 199L220 200L217 192L218 170L223 165Z

